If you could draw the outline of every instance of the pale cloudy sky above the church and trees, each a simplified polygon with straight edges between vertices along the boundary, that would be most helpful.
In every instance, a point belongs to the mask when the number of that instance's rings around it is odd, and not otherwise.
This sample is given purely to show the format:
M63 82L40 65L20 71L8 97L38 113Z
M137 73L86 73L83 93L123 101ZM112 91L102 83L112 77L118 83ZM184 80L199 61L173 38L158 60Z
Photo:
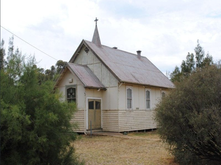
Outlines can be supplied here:
M198 39L214 61L221 59L220 0L1 1L1 26L57 60L69 61L82 39L92 39L95 17L103 45L141 50L163 73L194 52ZM6 48L11 36L1 28ZM16 36L14 43L40 67L56 63Z

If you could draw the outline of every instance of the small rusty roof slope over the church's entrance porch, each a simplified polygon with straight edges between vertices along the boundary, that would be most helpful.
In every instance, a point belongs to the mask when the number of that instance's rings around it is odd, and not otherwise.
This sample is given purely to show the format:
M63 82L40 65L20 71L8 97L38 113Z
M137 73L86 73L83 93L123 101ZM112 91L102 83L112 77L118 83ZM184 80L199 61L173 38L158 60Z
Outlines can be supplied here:
M100 82L100 80L88 68L88 66L67 63L67 67L78 77L85 88L106 89L105 86Z

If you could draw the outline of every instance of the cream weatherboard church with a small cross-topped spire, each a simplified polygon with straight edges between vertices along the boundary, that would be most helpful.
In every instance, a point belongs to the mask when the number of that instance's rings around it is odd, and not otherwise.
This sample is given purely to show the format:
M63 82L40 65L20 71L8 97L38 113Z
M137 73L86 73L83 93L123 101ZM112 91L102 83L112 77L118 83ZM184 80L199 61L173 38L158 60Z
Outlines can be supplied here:
M156 128L155 105L173 83L146 57L101 44L97 19L92 42L82 40L56 88L75 101L76 132Z

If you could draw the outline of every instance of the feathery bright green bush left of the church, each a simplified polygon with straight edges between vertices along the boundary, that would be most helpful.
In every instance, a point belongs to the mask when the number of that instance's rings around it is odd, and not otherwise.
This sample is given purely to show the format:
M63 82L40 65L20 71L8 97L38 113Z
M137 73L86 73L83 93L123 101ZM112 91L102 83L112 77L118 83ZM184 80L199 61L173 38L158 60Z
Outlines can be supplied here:
M39 85L35 60L13 48L0 71L1 164L78 164L70 146L75 104L60 102L53 82Z

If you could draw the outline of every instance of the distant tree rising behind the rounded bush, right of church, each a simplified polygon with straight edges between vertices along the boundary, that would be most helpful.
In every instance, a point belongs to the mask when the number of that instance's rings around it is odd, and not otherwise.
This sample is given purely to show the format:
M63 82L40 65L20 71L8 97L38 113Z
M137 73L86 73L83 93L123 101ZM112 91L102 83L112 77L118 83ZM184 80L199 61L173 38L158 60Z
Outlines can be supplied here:
M194 51L195 55L193 53L188 53L186 60L182 61L180 69L176 66L174 71L170 74L172 82L181 82L197 68L204 68L213 64L212 56L210 56L209 53L205 56L205 52L200 46L199 41L197 41L197 46Z

